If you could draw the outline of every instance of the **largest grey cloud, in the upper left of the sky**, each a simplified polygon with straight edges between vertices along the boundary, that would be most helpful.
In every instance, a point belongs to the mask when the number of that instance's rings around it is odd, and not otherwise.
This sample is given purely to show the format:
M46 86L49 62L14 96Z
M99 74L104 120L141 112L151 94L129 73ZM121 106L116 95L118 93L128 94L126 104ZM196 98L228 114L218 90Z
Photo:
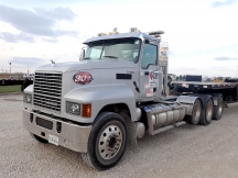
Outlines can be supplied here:
M0 4L0 12L1 21L10 23L22 33L47 37L77 36L78 34L76 31L55 29L58 21L73 21L76 16L68 8L30 11Z

